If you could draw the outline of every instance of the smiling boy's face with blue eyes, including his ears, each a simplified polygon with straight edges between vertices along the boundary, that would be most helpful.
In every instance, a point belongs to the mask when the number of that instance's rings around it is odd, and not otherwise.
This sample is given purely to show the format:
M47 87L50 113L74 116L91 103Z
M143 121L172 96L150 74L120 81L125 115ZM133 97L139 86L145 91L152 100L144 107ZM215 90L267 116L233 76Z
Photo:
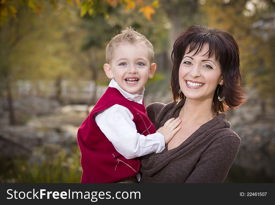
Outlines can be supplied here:
M153 78L156 64L150 63L148 48L142 43L123 44L113 51L110 64L104 64L108 78L114 78L128 93L140 94L148 78Z

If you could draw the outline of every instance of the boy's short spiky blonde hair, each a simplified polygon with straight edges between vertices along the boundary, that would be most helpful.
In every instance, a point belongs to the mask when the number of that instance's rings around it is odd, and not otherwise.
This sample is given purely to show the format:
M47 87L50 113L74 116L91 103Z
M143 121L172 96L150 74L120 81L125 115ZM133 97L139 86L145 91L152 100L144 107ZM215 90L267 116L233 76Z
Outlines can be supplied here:
M143 43L148 48L149 60L150 63L153 62L154 50L152 43L141 33L136 32L133 28L126 28L122 30L120 34L114 36L106 47L106 61L108 64L111 63L113 57L113 51L118 45L123 44L134 44L134 43Z

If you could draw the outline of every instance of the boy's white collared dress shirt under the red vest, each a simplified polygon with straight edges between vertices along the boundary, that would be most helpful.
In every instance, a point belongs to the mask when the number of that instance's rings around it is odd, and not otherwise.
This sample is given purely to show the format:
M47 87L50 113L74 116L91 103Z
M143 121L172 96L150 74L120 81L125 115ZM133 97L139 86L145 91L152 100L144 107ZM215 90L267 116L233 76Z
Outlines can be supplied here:
M109 87L116 88L128 100L143 103L144 87L140 95L131 94L119 87L112 79ZM105 134L114 148L126 159L140 157L150 153L159 153L165 147L164 136L158 132L154 134L139 134L133 122L131 111L115 104L101 112L96 113L95 121L100 130Z

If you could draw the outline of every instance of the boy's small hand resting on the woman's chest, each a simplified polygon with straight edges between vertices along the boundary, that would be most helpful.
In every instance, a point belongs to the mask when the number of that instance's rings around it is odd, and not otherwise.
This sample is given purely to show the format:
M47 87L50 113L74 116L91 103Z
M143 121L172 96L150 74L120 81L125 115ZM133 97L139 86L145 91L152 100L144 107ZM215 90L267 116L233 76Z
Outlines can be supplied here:
M165 144L167 144L174 135L181 129L181 126L178 126L181 123L181 119L178 118L171 118L166 121L163 127L159 128L156 132L159 132L164 136Z

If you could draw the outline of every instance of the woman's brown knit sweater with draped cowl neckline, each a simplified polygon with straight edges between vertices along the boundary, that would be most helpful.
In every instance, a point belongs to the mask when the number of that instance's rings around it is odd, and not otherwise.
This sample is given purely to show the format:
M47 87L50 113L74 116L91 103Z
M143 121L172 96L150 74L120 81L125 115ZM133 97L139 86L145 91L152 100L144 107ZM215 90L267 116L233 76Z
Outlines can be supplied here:
M184 100L175 104L152 103L149 119L156 129L177 118ZM230 129L226 114L203 124L178 147L142 157L140 183L222 183L235 160L241 139Z

